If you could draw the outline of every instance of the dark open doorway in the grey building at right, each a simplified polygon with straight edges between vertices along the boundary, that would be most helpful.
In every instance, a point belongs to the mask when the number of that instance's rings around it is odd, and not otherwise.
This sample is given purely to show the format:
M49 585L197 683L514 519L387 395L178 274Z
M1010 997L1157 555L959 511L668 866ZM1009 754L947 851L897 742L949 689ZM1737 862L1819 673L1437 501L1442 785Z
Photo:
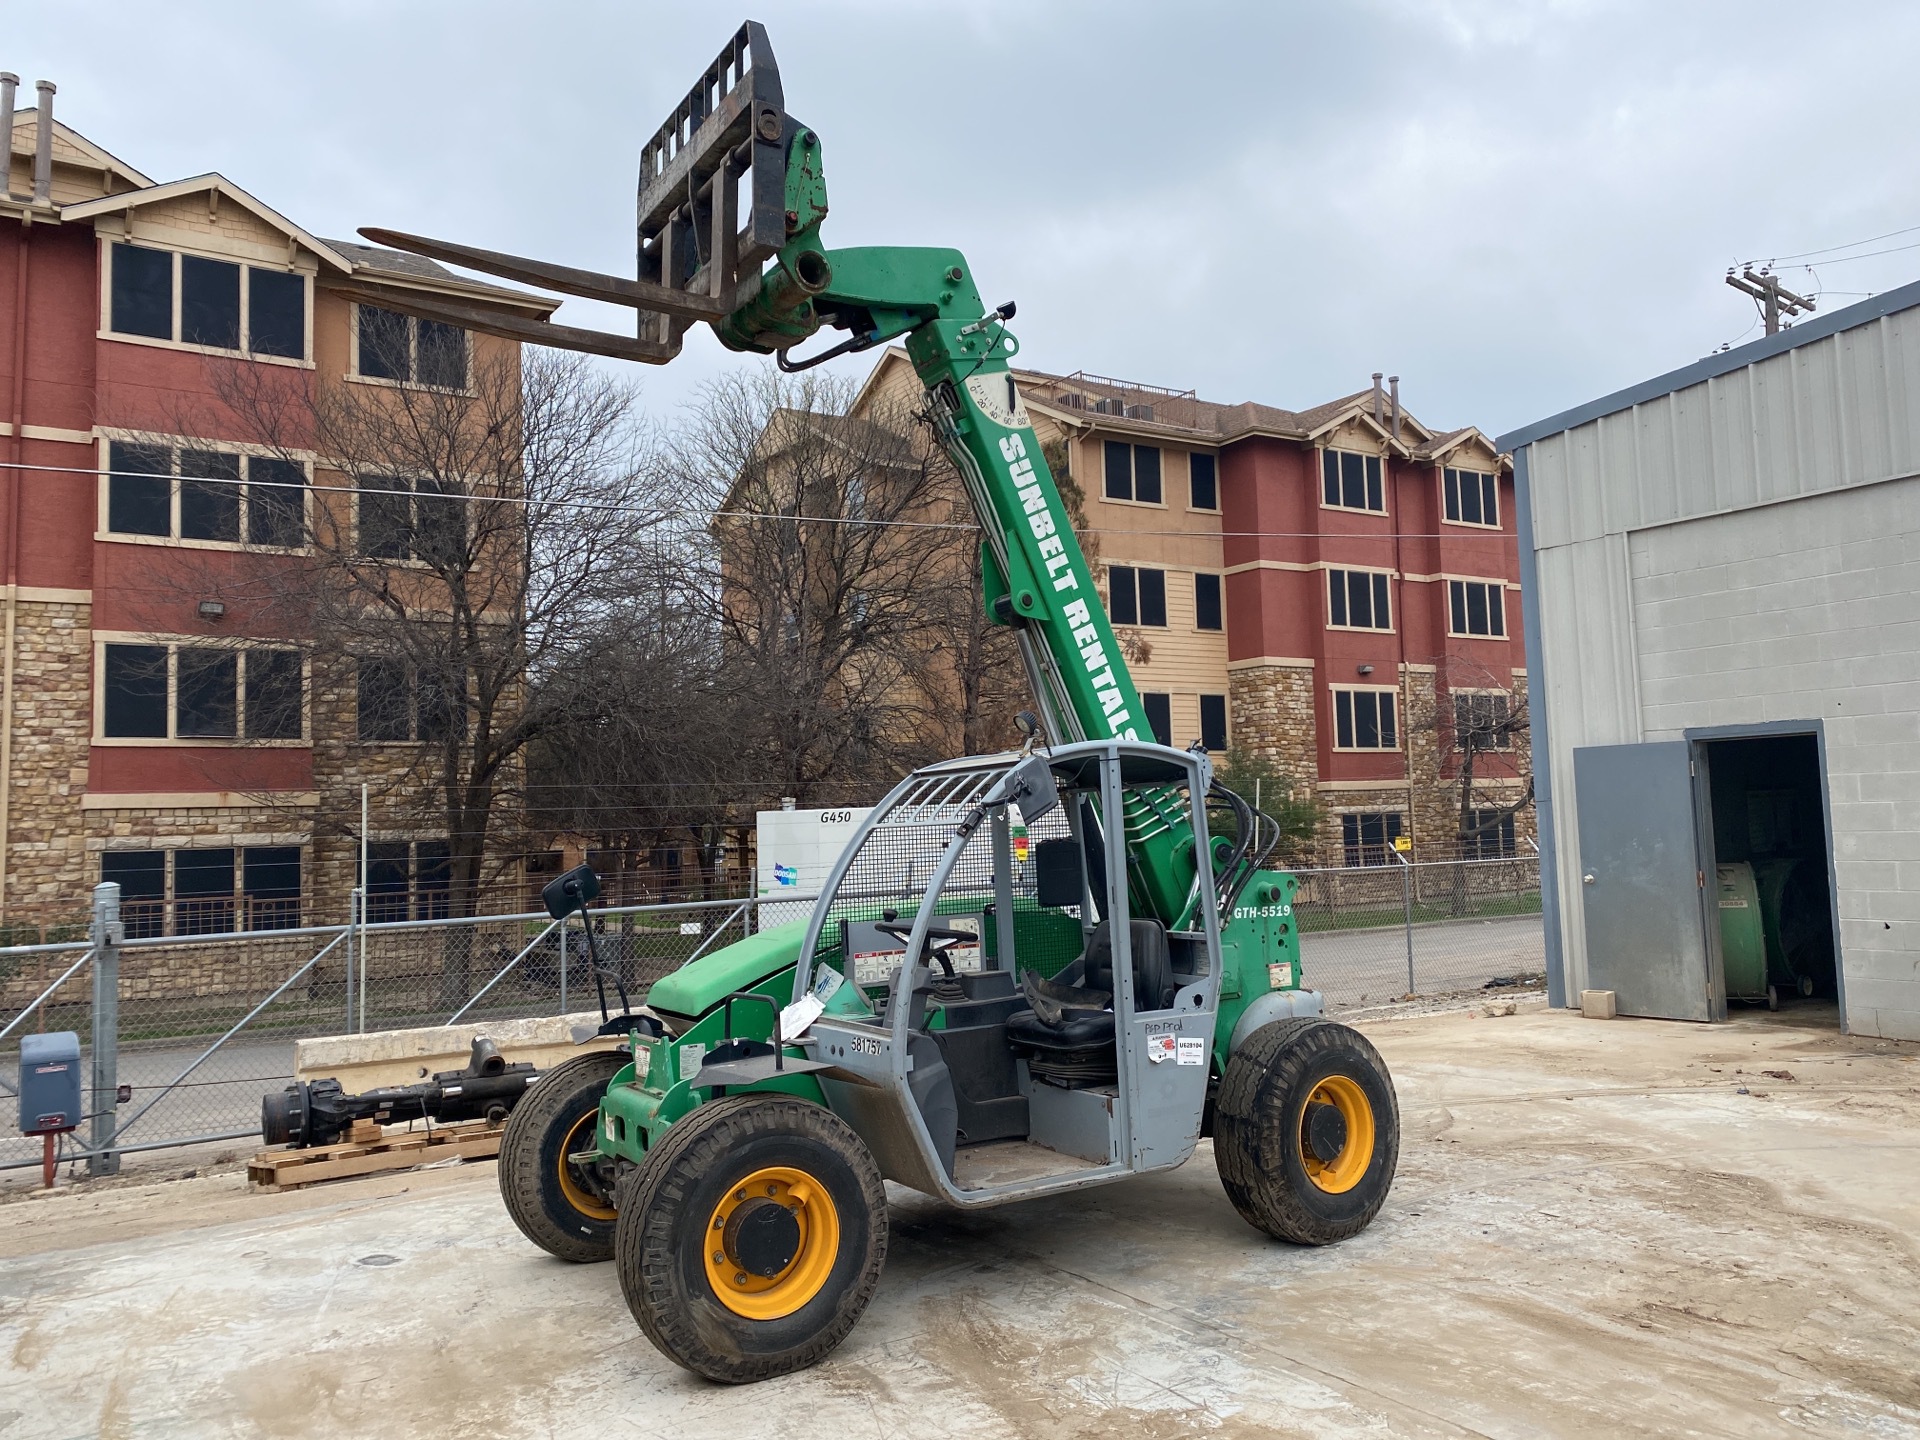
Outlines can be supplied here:
M1711 810L1709 920L1728 1010L1839 1018L1839 945L1816 733L1692 735Z

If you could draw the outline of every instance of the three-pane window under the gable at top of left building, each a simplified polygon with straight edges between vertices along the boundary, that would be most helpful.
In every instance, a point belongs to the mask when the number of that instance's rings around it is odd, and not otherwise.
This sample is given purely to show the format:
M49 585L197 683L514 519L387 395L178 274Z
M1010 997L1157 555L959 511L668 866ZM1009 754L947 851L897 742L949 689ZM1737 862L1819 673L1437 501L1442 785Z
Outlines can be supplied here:
M307 276L117 242L108 330L276 359L307 357ZM179 300L179 303L175 303Z

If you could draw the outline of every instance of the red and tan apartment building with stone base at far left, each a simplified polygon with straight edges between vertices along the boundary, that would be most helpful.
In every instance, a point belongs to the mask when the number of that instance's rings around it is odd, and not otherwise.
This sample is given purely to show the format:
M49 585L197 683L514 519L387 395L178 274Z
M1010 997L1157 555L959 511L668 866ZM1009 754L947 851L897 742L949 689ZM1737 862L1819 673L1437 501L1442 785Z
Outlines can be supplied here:
M300 634L213 593L298 563L326 507L413 520L232 396L298 417L328 384L459 394L515 348L382 298L553 301L319 238L223 175L154 180L56 121L50 84L23 109L0 90L0 925L81 916L102 879L136 935L338 920L361 781L432 739L428 707L372 693L378 666L315 674ZM445 841L374 789L372 918L444 912Z

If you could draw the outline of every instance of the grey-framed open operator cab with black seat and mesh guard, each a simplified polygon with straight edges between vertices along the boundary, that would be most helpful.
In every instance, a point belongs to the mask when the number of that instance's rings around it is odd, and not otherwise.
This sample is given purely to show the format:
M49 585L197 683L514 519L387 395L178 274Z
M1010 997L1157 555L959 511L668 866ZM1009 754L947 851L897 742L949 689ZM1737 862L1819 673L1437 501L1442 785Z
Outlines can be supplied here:
M983 1204L1192 1152L1215 895L1154 914L1123 835L1190 826L1204 847L1208 783L1204 755L1087 741L927 766L874 808L795 996L828 1000L803 1043L889 1179Z

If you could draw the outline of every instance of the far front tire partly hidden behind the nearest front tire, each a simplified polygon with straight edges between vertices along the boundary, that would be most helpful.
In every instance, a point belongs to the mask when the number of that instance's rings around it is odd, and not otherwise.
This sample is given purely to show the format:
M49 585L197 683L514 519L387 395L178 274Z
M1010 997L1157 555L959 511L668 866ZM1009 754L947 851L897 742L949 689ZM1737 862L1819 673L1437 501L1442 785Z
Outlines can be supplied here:
M612 1260L614 1212L564 1169L566 1154L593 1142L607 1083L630 1060L626 1050L563 1060L520 1096L499 1137L499 1198L507 1213L520 1235L576 1265Z

